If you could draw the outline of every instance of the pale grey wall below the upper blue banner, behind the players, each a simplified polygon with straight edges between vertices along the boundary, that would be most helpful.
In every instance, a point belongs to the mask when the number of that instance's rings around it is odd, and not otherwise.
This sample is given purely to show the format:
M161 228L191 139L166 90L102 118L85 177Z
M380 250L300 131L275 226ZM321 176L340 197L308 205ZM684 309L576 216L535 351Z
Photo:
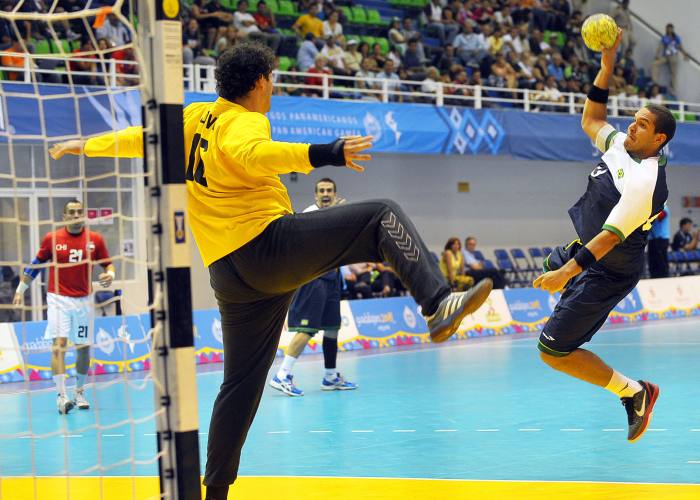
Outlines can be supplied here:
M475 235L488 254L493 248L542 246L575 238L567 210L586 188L593 163L520 161L454 155L376 155L364 173L326 167L296 182L285 176L295 210L313 203L317 180L331 177L348 201L390 198L399 202L431 250L450 236ZM471 192L458 193L467 181ZM700 186L700 167L671 164L668 170L671 227L685 212L681 197ZM329 237L332 232L329 231ZM193 303L215 307L209 277L193 246Z

